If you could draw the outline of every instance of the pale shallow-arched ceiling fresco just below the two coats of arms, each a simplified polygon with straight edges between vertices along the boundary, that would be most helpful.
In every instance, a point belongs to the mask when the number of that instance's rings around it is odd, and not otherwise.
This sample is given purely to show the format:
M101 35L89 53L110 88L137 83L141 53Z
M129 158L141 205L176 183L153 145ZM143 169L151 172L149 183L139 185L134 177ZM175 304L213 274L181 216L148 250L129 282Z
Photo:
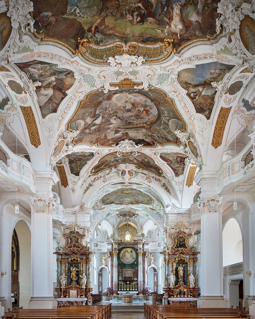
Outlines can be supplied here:
M152 199L148 195L140 192L137 189L117 189L114 190L112 193L105 195L101 202L103 205L109 204L145 204L150 205L152 204Z

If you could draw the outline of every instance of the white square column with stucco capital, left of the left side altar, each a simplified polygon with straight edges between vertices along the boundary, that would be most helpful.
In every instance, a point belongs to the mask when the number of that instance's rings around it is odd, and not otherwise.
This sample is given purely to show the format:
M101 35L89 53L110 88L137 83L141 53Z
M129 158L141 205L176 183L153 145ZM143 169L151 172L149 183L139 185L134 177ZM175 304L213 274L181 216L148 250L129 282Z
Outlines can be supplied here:
M53 296L52 200L32 198L31 277L29 308L57 308Z

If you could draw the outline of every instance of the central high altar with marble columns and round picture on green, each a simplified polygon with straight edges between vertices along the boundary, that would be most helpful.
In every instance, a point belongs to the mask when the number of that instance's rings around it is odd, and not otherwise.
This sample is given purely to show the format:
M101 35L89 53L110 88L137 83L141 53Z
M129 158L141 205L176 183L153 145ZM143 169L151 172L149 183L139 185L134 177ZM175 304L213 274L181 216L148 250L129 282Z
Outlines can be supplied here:
M143 296L157 293L157 268L148 249L149 241L143 234L136 234L131 241L126 242L118 233L114 233L106 239L106 245L107 253L105 256L102 254L103 265L98 271L98 293L105 300L125 293ZM103 267L108 270L108 287L102 287ZM154 269L153 287L148 287L148 267Z

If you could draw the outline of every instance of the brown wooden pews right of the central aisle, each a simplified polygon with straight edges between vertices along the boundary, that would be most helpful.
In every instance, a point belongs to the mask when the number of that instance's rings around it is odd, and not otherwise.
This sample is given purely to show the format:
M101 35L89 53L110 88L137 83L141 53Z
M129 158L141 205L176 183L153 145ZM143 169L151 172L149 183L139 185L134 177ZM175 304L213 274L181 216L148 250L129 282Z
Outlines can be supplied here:
M233 308L195 308L188 305L146 305L146 319L236 319L251 318L249 311Z

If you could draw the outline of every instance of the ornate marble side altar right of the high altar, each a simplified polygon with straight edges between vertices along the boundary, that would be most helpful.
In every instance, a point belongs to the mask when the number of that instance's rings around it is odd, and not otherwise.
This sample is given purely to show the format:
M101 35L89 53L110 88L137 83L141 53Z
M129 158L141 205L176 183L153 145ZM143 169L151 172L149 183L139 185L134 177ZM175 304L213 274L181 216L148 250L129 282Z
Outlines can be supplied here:
M191 229L185 227L181 222L178 228L169 232L172 242L167 242L161 254L164 256L165 282L163 291L165 293L164 303L175 300L174 304L192 303L199 296L198 286L198 256L200 252L194 242L190 246L192 237ZM176 298L176 299L175 299ZM195 302L195 301L194 301ZM172 303L172 302L171 302Z

